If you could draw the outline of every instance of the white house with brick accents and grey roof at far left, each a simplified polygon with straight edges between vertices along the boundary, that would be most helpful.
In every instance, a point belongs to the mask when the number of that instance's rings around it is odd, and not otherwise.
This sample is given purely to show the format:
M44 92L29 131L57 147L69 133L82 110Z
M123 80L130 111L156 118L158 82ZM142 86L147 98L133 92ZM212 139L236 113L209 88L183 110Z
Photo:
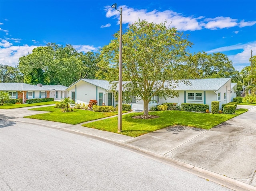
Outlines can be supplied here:
M67 97L67 87L60 85L30 85L26 83L0 83L0 91L9 93L12 99L22 98L23 103L33 98L51 98L60 99ZM58 94L60 96L58 96ZM66 96L65 96L66 95Z

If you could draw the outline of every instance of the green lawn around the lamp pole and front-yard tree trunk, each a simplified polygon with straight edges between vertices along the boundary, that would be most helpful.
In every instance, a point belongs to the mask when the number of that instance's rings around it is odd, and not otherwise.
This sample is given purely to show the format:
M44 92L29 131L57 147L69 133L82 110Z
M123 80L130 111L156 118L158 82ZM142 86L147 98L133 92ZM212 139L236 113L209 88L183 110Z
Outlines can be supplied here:
M130 113L122 116L122 132L120 134L137 137L172 125L210 129L246 111L248 110L238 109L236 114L208 114L174 110L156 111L149 112L149 114L157 115L159 118L146 120L132 118L132 116L142 115L142 113ZM117 119L117 117L114 117L82 126L117 133Z

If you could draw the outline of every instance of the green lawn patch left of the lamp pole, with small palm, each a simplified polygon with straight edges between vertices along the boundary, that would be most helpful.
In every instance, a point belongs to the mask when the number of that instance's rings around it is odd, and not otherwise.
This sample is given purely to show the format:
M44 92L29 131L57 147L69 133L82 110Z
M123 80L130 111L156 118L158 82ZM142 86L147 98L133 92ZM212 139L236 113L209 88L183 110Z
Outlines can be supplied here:
M117 111L116 112L94 112L90 110L81 110L81 109L74 109L74 112L62 112L62 109L55 108L55 106L32 108L30 110L51 111L51 112L26 116L25 118L62 122L62 123L73 124L73 125L118 114ZM123 111L123 113L124 112L126 111Z

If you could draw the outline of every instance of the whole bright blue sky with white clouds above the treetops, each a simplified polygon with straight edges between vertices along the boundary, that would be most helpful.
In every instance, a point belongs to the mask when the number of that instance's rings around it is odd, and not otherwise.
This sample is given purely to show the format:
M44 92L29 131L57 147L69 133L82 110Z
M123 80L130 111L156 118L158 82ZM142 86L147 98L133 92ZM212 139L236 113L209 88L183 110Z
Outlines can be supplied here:
M0 63L15 66L19 57L48 42L97 52L119 30L114 3L123 8L124 30L138 18L168 20L189 34L191 53L222 52L239 71L250 65L251 49L256 55L255 0L1 0Z

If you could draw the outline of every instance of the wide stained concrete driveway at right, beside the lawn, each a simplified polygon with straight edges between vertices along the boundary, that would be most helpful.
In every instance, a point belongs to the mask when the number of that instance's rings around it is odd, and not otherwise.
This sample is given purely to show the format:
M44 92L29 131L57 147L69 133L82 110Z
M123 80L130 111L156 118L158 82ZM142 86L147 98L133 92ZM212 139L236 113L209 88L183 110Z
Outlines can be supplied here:
M128 144L256 186L256 106L210 130L172 126Z

